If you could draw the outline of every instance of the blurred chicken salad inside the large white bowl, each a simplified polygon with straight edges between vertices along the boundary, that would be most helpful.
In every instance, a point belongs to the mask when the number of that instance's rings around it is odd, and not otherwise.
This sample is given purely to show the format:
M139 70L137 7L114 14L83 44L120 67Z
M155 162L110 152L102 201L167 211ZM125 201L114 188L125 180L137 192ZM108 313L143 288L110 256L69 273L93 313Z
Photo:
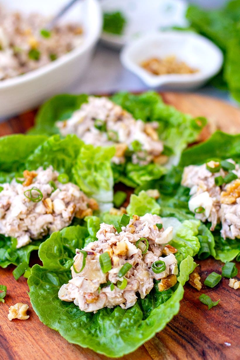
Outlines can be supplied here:
M45 29L50 18L7 12L0 6L0 80L42 67L83 42L77 24Z

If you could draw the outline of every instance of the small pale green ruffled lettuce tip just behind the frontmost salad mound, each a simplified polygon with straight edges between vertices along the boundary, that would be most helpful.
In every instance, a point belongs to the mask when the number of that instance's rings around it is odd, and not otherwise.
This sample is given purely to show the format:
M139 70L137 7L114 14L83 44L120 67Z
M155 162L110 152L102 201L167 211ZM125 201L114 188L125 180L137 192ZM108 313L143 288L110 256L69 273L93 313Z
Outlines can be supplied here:
M143 216L147 212L151 214L159 214L159 204L145 191L141 191L138 195L132 194L130 197L130 203L127 206L128 215L139 215Z

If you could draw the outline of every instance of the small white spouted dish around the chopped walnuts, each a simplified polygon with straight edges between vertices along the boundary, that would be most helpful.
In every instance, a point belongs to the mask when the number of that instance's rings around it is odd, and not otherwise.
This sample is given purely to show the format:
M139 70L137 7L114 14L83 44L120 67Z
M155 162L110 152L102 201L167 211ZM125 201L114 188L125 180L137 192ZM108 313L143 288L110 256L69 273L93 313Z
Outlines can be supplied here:
M150 58L175 55L198 72L153 75L140 66ZM187 31L151 33L126 45L120 55L124 67L135 73L149 87L193 89L203 85L222 67L222 51L204 36Z

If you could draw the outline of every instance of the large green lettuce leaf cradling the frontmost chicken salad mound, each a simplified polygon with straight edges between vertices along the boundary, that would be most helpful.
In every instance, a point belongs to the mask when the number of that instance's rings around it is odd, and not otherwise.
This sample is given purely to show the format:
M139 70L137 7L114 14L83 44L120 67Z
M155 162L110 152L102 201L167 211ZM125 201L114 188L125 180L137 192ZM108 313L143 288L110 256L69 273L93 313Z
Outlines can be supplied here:
M85 231L80 226L78 230L68 228L68 234L62 230L41 244L39 256L43 266L34 265L28 278L31 303L40 320L69 342L89 347L100 354L119 357L136 350L177 314L183 286L178 283L171 291L162 294L154 287L156 302L147 299L142 303L139 300L127 310L116 306L114 309L101 309L96 314L81 311L73 302L61 301L59 288L71 278L70 266L75 248L81 247ZM182 277L187 278L186 265L181 271Z

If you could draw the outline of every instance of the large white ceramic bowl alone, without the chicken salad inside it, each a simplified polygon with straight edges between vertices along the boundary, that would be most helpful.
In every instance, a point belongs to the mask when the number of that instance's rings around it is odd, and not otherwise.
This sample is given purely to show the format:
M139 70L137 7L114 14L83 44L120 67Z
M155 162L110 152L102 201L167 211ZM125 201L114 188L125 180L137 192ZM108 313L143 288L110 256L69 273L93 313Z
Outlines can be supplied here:
M54 15L65 3L66 0L1 0L6 9L44 15ZM83 26L82 44L39 69L0 81L0 119L36 107L50 96L66 91L83 75L101 33L102 15L99 2L79 1L69 10L63 21L79 22Z

